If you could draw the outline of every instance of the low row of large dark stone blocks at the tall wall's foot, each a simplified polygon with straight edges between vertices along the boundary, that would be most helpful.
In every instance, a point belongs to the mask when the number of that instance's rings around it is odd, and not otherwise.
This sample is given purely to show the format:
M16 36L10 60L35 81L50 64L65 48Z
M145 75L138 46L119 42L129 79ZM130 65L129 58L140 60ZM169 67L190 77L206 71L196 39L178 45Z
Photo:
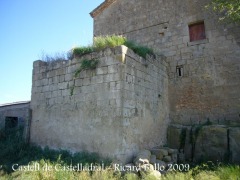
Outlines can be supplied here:
M240 163L240 127L226 125L174 126L168 128L168 145L182 149L188 161Z

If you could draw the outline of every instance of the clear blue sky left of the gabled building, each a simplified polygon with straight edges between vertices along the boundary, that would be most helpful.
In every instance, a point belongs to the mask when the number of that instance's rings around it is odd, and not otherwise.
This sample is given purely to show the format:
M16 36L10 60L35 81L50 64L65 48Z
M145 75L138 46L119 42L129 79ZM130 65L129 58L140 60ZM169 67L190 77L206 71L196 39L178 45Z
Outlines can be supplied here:
M92 43L89 13L103 0L0 0L0 104L30 100L42 52Z

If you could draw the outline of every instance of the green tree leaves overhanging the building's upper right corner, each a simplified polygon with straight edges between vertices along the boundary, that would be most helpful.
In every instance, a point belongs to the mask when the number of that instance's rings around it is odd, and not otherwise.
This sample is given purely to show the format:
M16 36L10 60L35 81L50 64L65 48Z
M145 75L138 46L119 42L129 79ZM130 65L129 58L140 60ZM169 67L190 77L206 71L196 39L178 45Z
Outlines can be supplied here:
M206 8L220 14L220 21L240 23L240 1L239 0L212 0Z

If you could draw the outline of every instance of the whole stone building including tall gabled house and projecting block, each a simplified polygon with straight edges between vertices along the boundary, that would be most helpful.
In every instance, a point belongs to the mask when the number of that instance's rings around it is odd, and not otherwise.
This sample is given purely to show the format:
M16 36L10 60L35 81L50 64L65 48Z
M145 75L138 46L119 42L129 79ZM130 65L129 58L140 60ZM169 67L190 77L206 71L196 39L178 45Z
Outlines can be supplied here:
M208 2L104 1L90 13L94 36L123 35L157 58L106 49L84 56L100 64L77 79L76 59L34 62L31 142L122 162L164 144L187 159L240 162L240 31Z

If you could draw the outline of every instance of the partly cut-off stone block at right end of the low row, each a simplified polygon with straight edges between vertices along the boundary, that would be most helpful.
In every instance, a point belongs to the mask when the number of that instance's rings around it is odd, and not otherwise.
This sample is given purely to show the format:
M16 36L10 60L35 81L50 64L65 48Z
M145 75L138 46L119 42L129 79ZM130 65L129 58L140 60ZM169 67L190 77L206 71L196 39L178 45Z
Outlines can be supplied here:
M231 161L240 163L240 127L229 129L229 146Z

